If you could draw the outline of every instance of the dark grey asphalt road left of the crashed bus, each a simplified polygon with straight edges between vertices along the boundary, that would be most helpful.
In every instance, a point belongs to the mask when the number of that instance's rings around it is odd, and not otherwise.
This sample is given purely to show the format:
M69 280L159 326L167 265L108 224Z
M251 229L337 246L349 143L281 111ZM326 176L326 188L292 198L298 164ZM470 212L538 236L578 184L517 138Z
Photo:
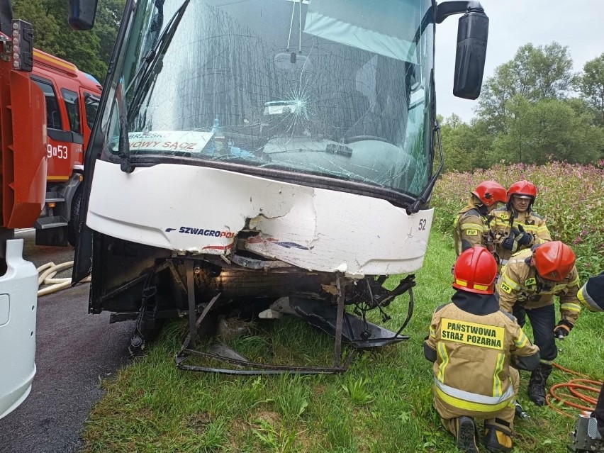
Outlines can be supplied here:
M26 241L23 255L36 267L73 259L72 247L37 247L32 232L16 237ZM128 363L132 323L89 315L88 292L82 284L38 298L38 371L26 401L0 420L1 453L77 452L84 421L103 396L99 380Z

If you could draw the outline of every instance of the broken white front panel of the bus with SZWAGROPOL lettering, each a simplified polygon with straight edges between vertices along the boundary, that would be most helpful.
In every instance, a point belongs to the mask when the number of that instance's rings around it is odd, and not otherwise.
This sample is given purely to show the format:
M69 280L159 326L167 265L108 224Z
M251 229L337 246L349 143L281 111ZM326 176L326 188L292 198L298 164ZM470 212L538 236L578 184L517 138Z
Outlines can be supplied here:
M97 161L86 224L183 254L228 255L237 233L255 230L247 250L360 277L419 269L432 215L430 209L408 216L377 198L208 167L157 164L126 174Z

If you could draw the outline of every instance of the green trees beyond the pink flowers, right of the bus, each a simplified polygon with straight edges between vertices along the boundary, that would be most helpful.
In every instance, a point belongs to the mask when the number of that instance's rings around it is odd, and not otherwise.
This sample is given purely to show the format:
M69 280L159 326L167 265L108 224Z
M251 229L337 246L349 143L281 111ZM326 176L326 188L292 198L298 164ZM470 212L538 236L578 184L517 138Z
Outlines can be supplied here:
M566 46L523 45L483 84L476 116L440 118L447 170L604 157L604 53L572 72Z

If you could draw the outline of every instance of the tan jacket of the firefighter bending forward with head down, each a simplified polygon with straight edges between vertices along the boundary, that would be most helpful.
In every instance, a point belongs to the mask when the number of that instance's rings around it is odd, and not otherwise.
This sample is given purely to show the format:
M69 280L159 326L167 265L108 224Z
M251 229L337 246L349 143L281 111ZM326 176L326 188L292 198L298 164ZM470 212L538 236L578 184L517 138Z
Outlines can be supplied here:
M508 313L512 313L515 303L522 303L527 309L540 308L551 305L554 296L559 296L561 318L574 325L581 312L577 296L581 284L576 267L563 281L543 281L531 266L531 257L531 250L521 250L501 269L496 286L500 308Z

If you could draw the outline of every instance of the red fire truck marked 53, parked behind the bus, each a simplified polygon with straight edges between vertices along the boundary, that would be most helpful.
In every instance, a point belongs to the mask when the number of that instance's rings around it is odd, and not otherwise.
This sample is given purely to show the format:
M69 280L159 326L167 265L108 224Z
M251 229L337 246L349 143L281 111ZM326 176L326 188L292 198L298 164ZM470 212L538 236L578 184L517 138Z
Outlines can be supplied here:
M74 245L84 150L99 107L101 84L72 63L37 49L30 79L46 99L48 135L46 200L35 222L35 243Z

